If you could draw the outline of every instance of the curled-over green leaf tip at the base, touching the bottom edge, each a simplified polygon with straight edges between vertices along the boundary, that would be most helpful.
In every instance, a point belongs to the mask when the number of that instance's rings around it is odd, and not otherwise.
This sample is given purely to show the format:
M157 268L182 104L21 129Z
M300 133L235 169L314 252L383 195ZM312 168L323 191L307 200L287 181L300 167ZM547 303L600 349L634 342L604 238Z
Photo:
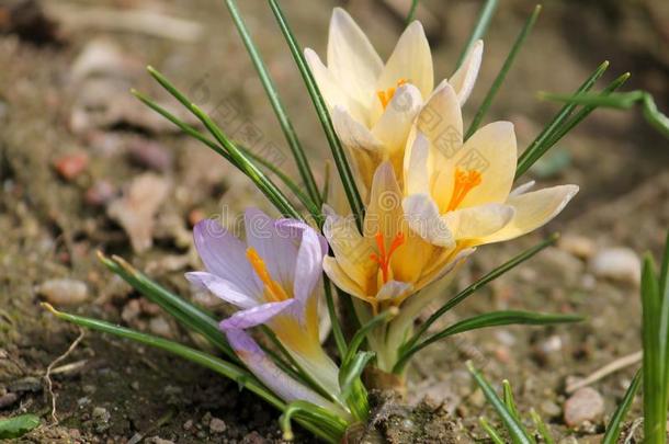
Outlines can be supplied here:
M316 406L308 401L293 401L283 409L283 414L279 420L285 441L293 441L294 439L293 428L291 425L293 417L299 417L320 429L318 435L330 443L339 442L348 426L348 423L344 420L330 413L320 406Z

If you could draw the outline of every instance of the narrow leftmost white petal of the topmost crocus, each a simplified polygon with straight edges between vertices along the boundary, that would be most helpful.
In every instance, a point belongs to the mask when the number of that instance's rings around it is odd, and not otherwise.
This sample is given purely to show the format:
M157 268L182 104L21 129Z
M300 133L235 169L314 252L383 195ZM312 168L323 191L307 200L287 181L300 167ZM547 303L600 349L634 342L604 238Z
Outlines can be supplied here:
M331 110L334 106L341 106L348 110L353 118L367 124L368 112L366 109L368 104L361 103L358 99L351 96L349 91L343 90L332 72L325 67L318 54L313 49L306 48L304 55L328 107Z

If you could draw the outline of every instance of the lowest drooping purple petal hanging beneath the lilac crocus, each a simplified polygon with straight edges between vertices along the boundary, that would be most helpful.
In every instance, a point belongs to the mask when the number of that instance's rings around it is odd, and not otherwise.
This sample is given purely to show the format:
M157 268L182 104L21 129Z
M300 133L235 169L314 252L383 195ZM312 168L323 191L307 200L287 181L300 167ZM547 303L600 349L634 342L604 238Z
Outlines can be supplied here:
M230 329L226 330L225 333L239 358L281 399L286 402L305 400L327 409L337 410L330 401L299 384L279 368L243 330Z

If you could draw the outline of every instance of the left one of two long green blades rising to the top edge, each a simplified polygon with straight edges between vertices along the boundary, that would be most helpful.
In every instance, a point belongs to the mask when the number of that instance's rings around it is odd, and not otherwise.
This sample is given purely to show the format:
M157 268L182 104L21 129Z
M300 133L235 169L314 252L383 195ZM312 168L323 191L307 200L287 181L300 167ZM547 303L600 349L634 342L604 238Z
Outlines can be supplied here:
M253 38L249 33L246 24L243 23L243 19L239 13L239 9L237 8L237 3L234 0L226 0L226 5L230 15L233 18L233 22L235 22L235 26L239 32L239 36L243 42L243 45L249 53L251 61L258 71L258 77L264 88L265 93L268 94L268 99L272 104L272 109L274 110L274 114L276 114L276 118L283 129L283 134L288 143L288 147L293 153L293 158L295 159L295 163L297 164L297 170L299 171L299 175L304 185L307 190L307 194L309 197L316 203L318 207L322 204L320 202L320 194L318 193L318 185L316 184L316 180L314 179L314 173L311 172L311 168L309 167L309 161L299 144L299 139L297 138L297 134L295 133L295 128L293 128L293 124L291 118L288 117L283 103L281 102L281 98L279 96L279 92L276 91L276 87L274 87L274 82L272 81L272 77L268 71L268 68L262 60L262 56L258 50L258 47L253 43Z

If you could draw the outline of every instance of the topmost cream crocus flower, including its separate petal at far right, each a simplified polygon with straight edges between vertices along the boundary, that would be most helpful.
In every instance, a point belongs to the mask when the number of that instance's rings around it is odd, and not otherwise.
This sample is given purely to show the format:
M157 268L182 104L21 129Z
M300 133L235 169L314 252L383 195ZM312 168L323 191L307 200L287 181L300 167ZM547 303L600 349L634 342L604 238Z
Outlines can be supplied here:
M481 55L479 41L449 79L461 104L472 92ZM390 160L399 174L411 123L434 88L432 55L422 25L412 22L407 26L384 65L353 19L336 8L330 20L327 67L309 48L305 57L366 190L383 161Z

